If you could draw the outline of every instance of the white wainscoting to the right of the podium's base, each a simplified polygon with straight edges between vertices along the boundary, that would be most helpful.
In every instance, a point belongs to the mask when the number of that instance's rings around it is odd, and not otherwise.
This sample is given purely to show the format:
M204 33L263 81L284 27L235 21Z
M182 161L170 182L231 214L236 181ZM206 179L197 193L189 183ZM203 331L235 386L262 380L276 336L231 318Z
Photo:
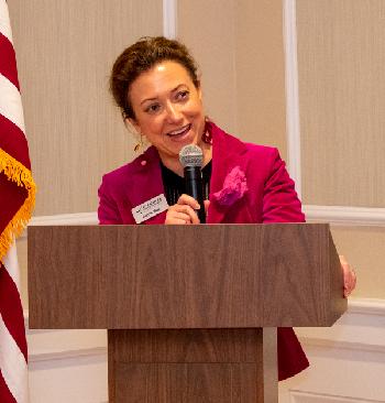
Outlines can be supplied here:
M297 328L310 368L279 384L279 403L385 402L385 299L354 299L331 328Z

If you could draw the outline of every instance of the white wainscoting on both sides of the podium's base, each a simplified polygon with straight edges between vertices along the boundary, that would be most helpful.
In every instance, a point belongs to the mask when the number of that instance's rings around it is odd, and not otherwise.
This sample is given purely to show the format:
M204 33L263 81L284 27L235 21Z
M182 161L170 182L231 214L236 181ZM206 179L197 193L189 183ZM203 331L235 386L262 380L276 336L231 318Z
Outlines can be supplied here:
M28 315L26 315L28 316ZM385 299L354 299L332 328L296 329L311 367L279 403L385 402ZM107 402L105 330L28 330L31 403Z

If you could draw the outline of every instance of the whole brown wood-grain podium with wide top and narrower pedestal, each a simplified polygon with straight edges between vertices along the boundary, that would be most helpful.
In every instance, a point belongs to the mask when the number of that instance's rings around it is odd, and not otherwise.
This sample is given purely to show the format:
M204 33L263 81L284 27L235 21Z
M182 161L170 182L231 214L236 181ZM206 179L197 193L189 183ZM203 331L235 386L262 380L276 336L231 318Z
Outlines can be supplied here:
M110 402L277 403L276 327L342 283L326 224L29 227L30 328L107 328Z

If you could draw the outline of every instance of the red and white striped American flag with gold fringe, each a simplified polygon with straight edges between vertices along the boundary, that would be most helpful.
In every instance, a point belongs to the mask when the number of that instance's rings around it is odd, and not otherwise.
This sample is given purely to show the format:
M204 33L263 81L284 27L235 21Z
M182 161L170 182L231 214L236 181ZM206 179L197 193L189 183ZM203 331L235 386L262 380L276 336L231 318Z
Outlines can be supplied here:
M14 240L35 200L16 61L6 0L0 0L0 402L29 401L28 351Z

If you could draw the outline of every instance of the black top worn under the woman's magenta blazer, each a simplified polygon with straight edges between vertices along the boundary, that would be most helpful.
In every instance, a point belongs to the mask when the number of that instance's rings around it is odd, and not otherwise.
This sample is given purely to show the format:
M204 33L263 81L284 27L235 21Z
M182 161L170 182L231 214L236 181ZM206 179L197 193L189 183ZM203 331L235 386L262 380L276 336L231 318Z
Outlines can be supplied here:
M168 206L173 206L178 202L178 198L185 192L185 178L168 170L161 162L162 179L165 196ZM210 195L210 178L211 178L211 161L201 170L202 172L202 186L204 186L204 199L208 199Z

